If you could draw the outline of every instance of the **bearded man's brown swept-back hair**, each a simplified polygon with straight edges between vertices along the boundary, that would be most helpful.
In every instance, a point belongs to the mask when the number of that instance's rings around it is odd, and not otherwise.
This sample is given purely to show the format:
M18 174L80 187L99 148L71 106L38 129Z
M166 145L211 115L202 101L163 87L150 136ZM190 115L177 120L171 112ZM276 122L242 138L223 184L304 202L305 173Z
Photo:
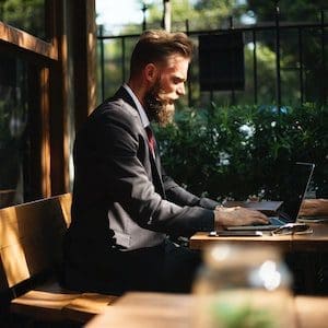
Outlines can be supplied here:
M130 61L130 75L133 77L148 65L160 63L172 55L191 59L194 44L185 33L168 33L164 30L145 31L137 43Z

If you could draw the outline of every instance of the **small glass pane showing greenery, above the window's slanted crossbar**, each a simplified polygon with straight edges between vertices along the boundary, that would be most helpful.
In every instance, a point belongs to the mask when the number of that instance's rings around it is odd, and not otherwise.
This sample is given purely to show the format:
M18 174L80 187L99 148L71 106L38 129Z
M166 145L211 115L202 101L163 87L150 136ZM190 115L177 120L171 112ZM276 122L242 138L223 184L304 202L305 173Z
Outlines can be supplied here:
M45 39L46 0L0 0L0 21Z

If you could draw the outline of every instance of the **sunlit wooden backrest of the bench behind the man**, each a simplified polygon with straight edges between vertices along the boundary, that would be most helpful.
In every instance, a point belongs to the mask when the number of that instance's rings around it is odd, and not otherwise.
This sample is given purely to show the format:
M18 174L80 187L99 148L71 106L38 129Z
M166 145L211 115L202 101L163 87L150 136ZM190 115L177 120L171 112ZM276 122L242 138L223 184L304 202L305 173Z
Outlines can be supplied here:
M61 260L71 194L0 209L0 291L49 271Z

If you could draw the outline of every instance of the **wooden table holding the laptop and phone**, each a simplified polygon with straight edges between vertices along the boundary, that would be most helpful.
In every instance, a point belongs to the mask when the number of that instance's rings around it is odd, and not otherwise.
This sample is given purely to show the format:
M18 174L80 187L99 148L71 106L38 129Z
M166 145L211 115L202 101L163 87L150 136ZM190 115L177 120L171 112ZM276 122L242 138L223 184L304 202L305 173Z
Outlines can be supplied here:
M271 236L270 233L263 233L263 236L256 237L212 237L208 233L197 233L190 238L189 247L191 249L203 249L207 246L216 243L231 242L234 244L256 244L256 245L270 245L278 246L282 250L298 251L298 250L320 250L328 251L328 224L312 223L312 234L303 235L281 235Z

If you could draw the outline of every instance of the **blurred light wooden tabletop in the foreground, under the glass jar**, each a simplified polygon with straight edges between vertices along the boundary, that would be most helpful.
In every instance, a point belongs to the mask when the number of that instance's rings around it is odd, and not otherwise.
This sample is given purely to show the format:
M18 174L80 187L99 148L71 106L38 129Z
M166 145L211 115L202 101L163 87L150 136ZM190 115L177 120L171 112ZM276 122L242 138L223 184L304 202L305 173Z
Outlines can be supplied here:
M116 305L86 324L86 328L190 328L196 306L195 295L127 293ZM295 327L327 327L328 297L296 296Z

